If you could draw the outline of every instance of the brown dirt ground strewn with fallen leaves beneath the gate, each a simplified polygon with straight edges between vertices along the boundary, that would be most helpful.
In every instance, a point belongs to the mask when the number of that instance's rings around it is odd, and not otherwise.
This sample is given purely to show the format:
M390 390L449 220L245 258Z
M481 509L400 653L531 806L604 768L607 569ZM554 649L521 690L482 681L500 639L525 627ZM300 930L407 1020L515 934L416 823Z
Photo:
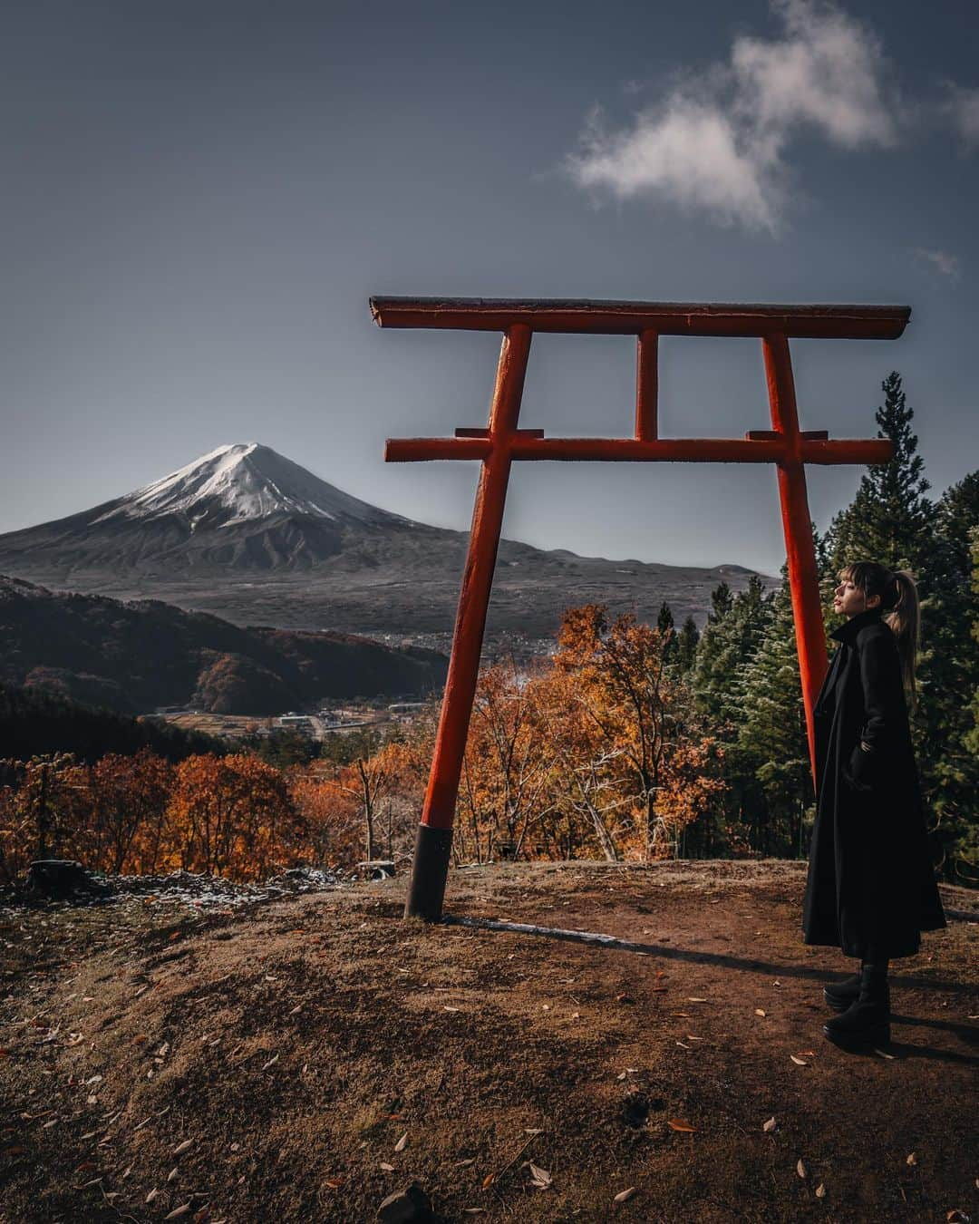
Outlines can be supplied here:
M467 868L441 925L404 880L0 911L0 1219L361 1222L412 1180L447 1222L979 1219L979 897L942 886L854 1055L804 881Z

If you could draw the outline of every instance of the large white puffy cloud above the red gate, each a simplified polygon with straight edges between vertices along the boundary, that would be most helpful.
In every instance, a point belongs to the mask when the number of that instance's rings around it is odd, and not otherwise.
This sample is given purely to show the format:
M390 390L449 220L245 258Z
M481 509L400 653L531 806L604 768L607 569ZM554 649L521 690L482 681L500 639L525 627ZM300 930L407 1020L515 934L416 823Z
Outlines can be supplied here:
M565 159L573 181L777 233L793 180L786 149L797 131L815 130L847 149L895 144L874 35L831 4L771 2L780 38L735 39L728 64L680 81L618 131L594 113Z

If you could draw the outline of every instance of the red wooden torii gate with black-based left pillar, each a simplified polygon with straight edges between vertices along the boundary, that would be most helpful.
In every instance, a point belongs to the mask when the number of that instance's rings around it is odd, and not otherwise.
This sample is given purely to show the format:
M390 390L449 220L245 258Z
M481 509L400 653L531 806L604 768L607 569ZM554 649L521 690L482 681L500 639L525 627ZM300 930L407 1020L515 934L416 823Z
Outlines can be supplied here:
M910 307L510 301L482 297L371 297L370 304L381 327L503 333L486 428L459 428L453 438L389 438L384 452L384 458L394 463L421 459L482 461L405 917L432 920L442 917L459 777L476 693L507 483L514 459L777 465L809 756L815 778L813 706L827 663L813 525L805 493L805 464L886 463L893 455L893 443L884 438L831 442L825 430L802 431L788 340L789 337L893 340L904 330ZM638 337L635 437L545 438L543 430L518 428L530 340L535 332ZM660 335L759 337L769 384L771 430L749 430L744 438L661 438L657 432L656 361Z

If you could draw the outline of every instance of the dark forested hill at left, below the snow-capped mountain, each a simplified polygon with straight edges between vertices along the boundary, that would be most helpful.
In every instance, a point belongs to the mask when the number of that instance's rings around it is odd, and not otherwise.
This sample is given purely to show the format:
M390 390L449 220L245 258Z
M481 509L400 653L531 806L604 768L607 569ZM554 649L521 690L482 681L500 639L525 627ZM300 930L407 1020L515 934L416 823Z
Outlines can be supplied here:
M0 682L140 714L280 714L326 696L422 694L447 659L338 633L242 629L154 600L124 603L0 577Z

